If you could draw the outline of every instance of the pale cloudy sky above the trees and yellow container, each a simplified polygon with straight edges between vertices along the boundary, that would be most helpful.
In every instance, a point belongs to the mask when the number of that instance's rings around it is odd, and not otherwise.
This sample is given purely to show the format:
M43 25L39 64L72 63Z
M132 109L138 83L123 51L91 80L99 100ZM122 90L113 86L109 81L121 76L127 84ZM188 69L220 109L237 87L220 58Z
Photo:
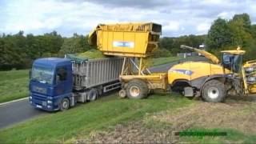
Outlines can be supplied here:
M216 18L250 14L255 0L0 0L0 34L44 34L56 30L70 37L88 34L99 23L156 22L162 35L207 34Z

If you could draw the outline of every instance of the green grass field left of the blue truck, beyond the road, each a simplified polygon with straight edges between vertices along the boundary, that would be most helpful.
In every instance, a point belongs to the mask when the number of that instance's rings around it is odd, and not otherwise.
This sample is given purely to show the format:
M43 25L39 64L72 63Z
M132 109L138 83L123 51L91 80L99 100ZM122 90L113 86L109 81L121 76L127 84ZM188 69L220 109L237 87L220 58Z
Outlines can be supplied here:
M28 96L29 70L0 71L0 103Z

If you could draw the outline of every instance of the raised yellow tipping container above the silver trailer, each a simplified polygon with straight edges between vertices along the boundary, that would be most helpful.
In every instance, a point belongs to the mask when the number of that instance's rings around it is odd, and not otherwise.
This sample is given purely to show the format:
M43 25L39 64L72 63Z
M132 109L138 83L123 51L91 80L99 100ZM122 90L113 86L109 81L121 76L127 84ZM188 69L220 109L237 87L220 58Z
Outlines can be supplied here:
M98 25L89 34L89 43L103 54L145 58L158 47L162 26L153 22Z

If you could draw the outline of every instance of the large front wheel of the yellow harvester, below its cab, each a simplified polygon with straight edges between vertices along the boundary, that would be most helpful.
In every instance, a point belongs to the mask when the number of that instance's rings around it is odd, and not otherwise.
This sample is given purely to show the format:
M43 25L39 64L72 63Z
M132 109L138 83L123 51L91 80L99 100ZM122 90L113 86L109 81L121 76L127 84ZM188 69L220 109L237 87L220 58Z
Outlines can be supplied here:
M202 98L206 102L223 102L225 97L225 85L218 80L210 80L202 87Z

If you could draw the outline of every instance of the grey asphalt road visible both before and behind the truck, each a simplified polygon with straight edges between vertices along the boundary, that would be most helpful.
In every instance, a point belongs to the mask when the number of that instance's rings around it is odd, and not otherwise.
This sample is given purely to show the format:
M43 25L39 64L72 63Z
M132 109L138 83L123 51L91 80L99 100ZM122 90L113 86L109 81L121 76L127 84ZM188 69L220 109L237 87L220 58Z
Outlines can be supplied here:
M179 62L185 62L190 60L182 59ZM191 59L193 61L205 61L206 58L198 57ZM161 66L154 66L150 68L151 72L166 72L170 69L170 66L174 66L178 62L170 62ZM30 118L35 118L38 115L42 114L49 114L49 112L43 110L37 110L30 106L28 99L18 101L18 102L11 102L6 105L0 106L0 130L2 128L14 125L18 122L26 121Z

